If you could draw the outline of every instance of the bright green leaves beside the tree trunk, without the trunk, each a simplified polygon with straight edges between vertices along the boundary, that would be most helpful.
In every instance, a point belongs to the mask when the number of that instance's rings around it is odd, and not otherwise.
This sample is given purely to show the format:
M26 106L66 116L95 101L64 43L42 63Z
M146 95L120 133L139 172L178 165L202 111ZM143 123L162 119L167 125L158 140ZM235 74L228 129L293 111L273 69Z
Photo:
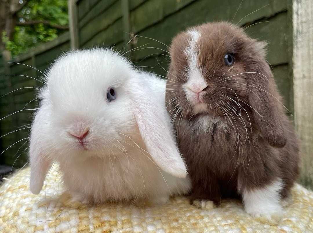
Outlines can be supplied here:
M3 34L3 41L12 56L26 52L29 48L37 46L38 43L51 41L58 37L64 30L56 28L54 25L68 25L67 1L30 0L18 12L17 20L13 40L9 41L5 33ZM30 25L23 25L23 23L30 23Z

